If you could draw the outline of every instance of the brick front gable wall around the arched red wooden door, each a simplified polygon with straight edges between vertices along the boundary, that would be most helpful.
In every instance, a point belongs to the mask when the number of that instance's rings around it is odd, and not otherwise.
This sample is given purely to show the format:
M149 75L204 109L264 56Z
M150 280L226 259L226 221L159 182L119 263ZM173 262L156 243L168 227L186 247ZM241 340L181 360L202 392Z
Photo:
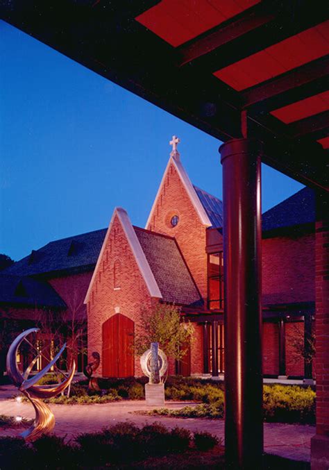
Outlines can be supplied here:
M117 269L118 262L119 269ZM114 269L115 265L116 269ZM116 284L114 271L116 271ZM88 354L90 355L93 351L102 353L102 325L116 313L116 310L132 319L136 329L141 306L150 308L151 304L149 291L116 216L87 303ZM102 358L99 374L101 374L101 369ZM142 375L140 358L137 357L135 358L135 375Z

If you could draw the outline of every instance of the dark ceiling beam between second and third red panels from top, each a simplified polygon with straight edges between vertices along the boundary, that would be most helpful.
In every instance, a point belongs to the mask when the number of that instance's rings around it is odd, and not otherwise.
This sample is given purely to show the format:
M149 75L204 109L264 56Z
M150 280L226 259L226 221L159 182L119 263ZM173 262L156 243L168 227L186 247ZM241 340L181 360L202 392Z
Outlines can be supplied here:
M244 108L269 112L325 92L329 87L329 55L271 78L241 93Z

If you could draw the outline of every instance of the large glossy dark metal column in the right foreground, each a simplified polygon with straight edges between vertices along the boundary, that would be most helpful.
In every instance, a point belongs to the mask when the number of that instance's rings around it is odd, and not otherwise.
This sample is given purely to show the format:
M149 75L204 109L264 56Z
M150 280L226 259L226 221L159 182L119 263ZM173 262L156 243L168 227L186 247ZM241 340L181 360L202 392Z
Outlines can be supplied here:
M260 144L230 140L223 165L225 452L234 469L261 469L262 311Z

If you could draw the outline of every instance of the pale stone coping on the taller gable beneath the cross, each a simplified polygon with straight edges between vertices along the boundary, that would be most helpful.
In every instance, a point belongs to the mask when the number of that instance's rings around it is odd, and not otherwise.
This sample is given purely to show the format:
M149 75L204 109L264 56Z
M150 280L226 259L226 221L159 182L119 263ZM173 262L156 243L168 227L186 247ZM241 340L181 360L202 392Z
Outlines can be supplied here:
M162 181L160 183L158 192L155 196L155 199L154 199L154 202L153 202L153 205L152 205L152 208L151 208L151 212L150 212L149 218L147 219L145 228L147 228L149 226L149 224L151 223L151 220L152 220L152 217L153 217L153 211L155 210L155 207L156 207L157 202L158 202L158 198L160 197L160 194L162 192L162 187L165 184L165 179L166 179L166 176L167 176L167 172L169 171L169 167L170 167L171 164L174 165L174 168L176 169L176 171L178 173L180 181L183 183L183 186L185 187L185 190L186 190L186 192L189 196L189 199L192 202L192 204L194 205L194 208L196 210L197 215L199 215L199 219L201 221L201 224L203 224L207 227L210 227L212 225L212 223L210 221L210 218L208 217L207 211L203 207L203 204L201 203L198 195L196 194L196 190L194 189L194 186L192 185L191 181L189 180L189 176L187 175L187 172L185 171L183 165L181 164L181 162L179 160L179 157L171 156L169 158L167 168L165 169L165 173L162 176Z

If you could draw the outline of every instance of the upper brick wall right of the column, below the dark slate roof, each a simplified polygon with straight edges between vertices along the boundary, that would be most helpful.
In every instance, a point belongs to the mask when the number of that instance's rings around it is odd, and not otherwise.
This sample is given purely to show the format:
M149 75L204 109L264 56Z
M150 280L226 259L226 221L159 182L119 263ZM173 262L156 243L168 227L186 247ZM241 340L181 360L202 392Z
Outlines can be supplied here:
M264 304L314 301L314 233L262 240Z

